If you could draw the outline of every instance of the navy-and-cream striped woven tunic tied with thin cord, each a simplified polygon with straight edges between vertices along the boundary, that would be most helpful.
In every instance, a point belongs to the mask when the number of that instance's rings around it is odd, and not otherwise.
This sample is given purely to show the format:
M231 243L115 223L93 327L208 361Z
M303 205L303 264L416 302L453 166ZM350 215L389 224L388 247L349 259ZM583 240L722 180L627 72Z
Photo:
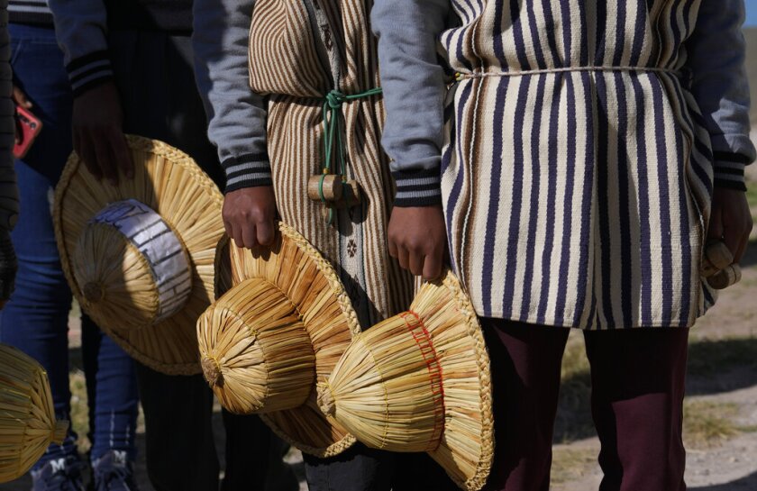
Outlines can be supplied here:
M687 75L701 3L451 0L442 204L479 315L686 327L713 305L714 137Z

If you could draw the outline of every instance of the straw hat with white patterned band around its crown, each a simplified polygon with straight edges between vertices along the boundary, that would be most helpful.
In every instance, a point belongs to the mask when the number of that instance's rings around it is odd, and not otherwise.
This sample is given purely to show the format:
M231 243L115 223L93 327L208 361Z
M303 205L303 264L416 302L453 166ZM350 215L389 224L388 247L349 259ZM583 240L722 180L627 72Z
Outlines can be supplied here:
M68 159L53 214L63 271L82 309L134 359L200 373L195 323L214 298L223 195L182 151L127 141L135 176L118 186Z

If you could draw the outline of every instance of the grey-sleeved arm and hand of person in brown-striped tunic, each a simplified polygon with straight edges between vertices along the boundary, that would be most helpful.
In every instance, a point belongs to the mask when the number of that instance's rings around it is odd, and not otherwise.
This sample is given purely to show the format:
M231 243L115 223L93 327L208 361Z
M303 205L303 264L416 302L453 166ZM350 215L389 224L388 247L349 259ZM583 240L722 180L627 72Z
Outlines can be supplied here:
M266 148L266 101L249 86L254 0L196 0L192 44L208 137L226 174L223 223L239 246L269 245L276 201Z

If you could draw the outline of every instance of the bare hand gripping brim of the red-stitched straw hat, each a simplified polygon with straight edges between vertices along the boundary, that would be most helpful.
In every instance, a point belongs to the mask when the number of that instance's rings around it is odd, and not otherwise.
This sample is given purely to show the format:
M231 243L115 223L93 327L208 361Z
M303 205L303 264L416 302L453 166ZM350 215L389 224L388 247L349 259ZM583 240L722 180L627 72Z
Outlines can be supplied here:
M447 229L441 206L395 207L389 219L389 255L415 276L442 276Z

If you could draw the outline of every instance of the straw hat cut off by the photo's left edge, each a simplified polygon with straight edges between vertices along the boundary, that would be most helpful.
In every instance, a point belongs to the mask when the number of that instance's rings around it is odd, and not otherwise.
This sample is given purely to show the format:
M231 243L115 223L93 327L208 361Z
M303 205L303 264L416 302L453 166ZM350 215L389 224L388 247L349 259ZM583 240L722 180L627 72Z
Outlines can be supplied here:
M0 344L0 483L23 476L67 431L67 421L55 421L44 368Z

